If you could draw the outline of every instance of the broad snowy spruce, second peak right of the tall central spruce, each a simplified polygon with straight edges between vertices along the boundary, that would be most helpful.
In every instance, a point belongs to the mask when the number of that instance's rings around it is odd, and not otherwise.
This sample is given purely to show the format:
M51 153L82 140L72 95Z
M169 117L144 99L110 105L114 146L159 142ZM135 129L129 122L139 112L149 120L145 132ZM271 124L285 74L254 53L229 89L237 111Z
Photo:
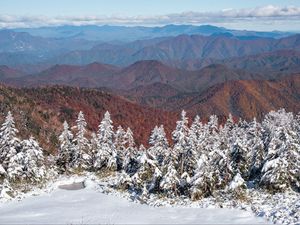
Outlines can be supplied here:
M227 128L219 128L216 116L211 116L209 122L203 126L198 168L191 179L192 195L195 198L211 195L215 189L224 188L232 178L227 131ZM201 187L198 184L201 180L209 181L210 184L203 183Z

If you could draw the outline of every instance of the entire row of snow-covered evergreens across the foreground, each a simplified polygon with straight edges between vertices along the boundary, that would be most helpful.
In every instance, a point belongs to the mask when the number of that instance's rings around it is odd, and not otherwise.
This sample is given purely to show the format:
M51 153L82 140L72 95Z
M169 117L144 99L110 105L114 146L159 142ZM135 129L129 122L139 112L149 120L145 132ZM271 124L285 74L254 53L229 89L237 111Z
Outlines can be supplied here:
M196 116L188 126L182 111L168 143L164 127L155 126L149 148L136 146L130 128L116 130L106 112L97 134L87 138L87 123L79 113L73 133L67 122L52 170L93 171L117 176L115 188L141 196L157 193L199 199L224 190L243 193L248 187L269 191L300 190L300 114L271 111L259 123L232 116L223 126L215 115L203 124ZM42 149L33 138L20 141L8 113L0 130L2 180L41 181L47 175ZM48 162L49 164L49 162Z

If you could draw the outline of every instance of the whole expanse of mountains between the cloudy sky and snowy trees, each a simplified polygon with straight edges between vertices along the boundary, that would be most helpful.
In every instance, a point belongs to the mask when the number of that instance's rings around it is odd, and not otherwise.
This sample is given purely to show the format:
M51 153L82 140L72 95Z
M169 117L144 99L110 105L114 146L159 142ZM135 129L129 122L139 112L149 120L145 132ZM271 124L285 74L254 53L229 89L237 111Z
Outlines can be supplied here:
M12 86L1 87L1 112L15 107L27 123L38 107L28 122L38 135L57 133L57 115L75 118L78 110L96 126L99 118L89 111L109 109L144 144L150 124L163 123L169 132L182 109L204 120L300 110L300 34L190 25L1 30L0 65L0 82ZM27 108L24 101L31 102Z

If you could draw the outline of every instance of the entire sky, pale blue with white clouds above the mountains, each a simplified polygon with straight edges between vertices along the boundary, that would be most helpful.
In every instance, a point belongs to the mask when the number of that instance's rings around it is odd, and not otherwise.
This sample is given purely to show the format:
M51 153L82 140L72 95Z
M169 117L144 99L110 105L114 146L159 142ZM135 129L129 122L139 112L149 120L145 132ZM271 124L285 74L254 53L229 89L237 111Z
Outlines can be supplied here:
M300 30L299 0L0 0L0 28L212 24Z

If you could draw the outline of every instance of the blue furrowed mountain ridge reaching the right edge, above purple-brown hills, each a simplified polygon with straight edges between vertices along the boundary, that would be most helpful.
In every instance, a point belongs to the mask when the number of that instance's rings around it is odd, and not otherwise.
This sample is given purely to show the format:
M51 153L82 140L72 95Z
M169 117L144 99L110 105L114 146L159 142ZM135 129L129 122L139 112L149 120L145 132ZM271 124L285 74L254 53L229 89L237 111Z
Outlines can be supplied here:
M245 57L279 50L300 50L300 35L282 39L259 38L240 40L227 36L179 35L163 39L144 40L128 44L101 44L90 50L76 50L48 62L84 65L92 62L128 66L141 60L185 62L216 61Z

